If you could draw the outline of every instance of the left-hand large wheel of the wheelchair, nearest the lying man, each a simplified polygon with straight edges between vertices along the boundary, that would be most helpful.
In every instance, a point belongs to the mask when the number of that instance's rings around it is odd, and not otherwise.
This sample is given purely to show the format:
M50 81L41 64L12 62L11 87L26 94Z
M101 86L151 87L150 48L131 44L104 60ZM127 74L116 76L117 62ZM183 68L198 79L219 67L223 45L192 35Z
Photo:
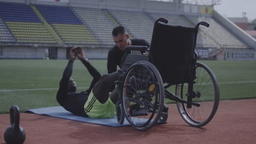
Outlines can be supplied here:
M126 71L122 105L125 118L137 130L148 130L158 122L164 105L164 86L152 63L139 61Z

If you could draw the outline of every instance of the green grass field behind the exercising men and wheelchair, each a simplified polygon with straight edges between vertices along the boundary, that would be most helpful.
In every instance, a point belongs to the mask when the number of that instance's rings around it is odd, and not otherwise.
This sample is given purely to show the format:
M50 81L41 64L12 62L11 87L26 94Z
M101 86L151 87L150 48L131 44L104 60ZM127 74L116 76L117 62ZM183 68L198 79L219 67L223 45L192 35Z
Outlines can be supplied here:
M59 106L55 96L68 60L0 60L0 113L9 113L11 105L20 111ZM220 99L256 98L256 61L200 61L210 67L219 82ZM101 74L107 73L106 60L92 60ZM74 63L72 78L78 91L90 85L92 78L83 64Z

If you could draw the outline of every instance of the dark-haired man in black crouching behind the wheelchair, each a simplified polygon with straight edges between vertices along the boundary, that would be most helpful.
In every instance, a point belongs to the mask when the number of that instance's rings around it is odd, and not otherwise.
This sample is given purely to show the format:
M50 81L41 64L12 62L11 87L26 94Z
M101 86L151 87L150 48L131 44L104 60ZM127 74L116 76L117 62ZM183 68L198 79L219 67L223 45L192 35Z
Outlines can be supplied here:
M108 52L108 74L117 71L117 66L121 68L121 59L125 54L125 47L128 45L139 45L150 47L144 39L129 39L130 36L123 26L115 27L112 31L115 46ZM143 54L143 51L141 52Z

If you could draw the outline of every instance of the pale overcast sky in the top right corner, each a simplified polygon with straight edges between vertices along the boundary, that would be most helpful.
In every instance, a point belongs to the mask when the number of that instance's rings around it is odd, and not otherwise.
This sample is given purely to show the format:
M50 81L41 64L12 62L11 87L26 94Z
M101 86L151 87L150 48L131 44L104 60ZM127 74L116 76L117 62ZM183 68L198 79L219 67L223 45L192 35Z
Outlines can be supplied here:
M225 17L242 17L242 13L246 12L248 20L256 19L256 0L222 0L214 9Z

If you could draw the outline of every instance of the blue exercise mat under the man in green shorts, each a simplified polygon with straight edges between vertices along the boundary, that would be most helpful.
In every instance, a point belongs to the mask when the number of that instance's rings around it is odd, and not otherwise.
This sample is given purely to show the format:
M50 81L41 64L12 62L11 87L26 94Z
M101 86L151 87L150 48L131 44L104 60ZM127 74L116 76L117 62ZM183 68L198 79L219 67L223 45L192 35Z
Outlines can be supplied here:
M124 124L119 124L117 122L117 118L88 118L83 116L77 116L72 114L71 112L66 111L61 106L54 106L54 107L44 107L40 109L32 109L32 110L26 110L26 113L35 113L38 115L46 115L51 117L57 117L57 118L63 118L63 119L70 119L73 121L78 122L85 122L85 123L92 123L92 124L98 124L98 125L106 125L109 127L124 127L124 126L130 126L130 123L124 121ZM138 119L138 122L140 120ZM141 120L143 121L143 120Z

